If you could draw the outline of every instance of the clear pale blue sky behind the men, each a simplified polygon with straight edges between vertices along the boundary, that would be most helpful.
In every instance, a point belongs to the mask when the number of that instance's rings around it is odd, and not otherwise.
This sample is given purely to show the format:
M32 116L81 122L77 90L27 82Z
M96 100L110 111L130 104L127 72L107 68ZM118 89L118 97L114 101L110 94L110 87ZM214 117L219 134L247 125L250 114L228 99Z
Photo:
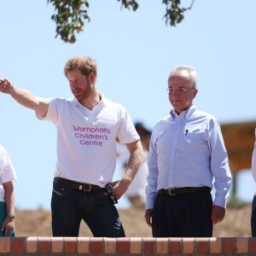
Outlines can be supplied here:
M55 38L47 0L0 1L0 78L38 96L71 97L65 62L89 55L98 65L98 90L152 129L172 107L166 94L172 67L188 64L198 73L197 108L221 124L256 119L255 0L195 0L176 27L166 26L162 1L137 2L133 12L116 0L90 0L90 22L75 44L66 44ZM55 126L9 95L0 94L0 113L0 143L19 177L16 207L49 209Z

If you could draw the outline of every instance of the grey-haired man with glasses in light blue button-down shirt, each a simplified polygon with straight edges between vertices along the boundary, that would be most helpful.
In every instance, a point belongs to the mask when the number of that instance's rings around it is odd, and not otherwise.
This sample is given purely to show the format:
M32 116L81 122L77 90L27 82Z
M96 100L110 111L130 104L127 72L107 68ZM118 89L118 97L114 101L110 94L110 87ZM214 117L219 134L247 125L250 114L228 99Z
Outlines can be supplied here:
M152 131L145 219L154 237L211 237L212 224L224 219L228 154L218 120L193 104L196 84L194 67L172 70L167 88L172 111Z

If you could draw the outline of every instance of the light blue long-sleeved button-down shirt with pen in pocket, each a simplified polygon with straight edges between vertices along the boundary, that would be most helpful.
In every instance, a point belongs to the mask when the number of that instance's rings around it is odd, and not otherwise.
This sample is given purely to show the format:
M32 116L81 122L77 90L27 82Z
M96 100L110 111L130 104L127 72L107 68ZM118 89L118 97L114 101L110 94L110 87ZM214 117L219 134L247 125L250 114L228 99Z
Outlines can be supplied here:
M213 177L213 204L226 207L231 173L218 120L195 105L160 119L150 139L146 209L153 208L159 189L212 188Z

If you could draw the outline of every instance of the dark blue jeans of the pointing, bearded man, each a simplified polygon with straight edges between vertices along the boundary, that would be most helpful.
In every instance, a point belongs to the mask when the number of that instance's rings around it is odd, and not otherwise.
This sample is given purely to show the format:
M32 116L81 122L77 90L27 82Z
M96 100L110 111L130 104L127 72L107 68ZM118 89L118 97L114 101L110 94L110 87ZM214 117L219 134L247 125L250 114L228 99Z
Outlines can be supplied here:
M51 198L53 236L79 236L81 220L96 237L125 237L119 213L108 193L82 191L54 183Z

